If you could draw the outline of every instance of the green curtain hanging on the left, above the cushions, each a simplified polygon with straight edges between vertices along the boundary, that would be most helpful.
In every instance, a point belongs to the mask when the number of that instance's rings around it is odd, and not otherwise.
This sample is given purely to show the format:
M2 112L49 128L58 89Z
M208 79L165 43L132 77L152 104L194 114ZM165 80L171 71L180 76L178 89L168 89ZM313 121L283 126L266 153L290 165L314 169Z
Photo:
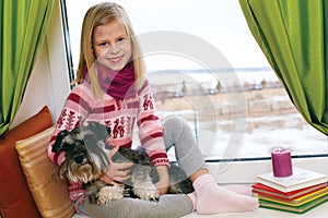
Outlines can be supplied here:
M0 135L8 130L21 106L46 35L54 1L0 2Z

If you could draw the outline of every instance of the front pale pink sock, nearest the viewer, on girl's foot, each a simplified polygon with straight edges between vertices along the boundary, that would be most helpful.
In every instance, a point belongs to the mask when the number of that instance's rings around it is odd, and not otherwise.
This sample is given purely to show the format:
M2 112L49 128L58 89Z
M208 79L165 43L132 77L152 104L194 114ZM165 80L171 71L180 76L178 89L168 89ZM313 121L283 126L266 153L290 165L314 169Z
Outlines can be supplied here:
M198 214L249 211L258 208L258 199L219 186L212 175L203 174L194 182Z

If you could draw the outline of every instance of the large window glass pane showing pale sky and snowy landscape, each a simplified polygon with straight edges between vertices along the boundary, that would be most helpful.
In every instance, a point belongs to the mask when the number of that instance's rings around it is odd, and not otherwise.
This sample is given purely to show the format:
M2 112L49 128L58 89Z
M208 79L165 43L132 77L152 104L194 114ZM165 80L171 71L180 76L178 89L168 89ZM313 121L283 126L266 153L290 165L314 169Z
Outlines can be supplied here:
M66 2L74 69L83 16L98 2ZM144 53L147 75L159 114L185 117L207 159L263 158L274 147L290 148L293 156L327 154L327 136L295 110L237 0L116 2L129 14L142 48L177 37L173 48ZM199 58L207 49L214 51ZM212 55L218 55L213 65Z

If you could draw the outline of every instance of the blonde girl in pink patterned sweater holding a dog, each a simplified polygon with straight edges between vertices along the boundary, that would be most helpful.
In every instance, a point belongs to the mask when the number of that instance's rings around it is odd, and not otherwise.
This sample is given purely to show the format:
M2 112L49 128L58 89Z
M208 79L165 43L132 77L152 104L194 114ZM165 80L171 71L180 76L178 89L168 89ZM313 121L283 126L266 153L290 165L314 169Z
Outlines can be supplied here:
M133 124L147 154L160 175L155 184L162 195L157 203L134 198L115 201L109 206L91 205L81 184L69 186L78 211L91 217L180 217L199 214L246 211L258 207L246 187L221 187L204 168L200 149L188 124L171 117L163 124L155 116L150 84L144 78L144 64L134 32L125 10L116 3L99 3L85 14L81 34L81 53L75 82L67 98L50 140L49 158L60 165L65 154L51 153L61 130L97 121L112 129L108 143L131 147ZM175 146L179 166L192 182L188 195L165 195L168 186L166 150ZM117 148L118 149L118 148ZM113 150L110 157L117 152ZM129 178L129 164L110 161L102 180L113 183Z

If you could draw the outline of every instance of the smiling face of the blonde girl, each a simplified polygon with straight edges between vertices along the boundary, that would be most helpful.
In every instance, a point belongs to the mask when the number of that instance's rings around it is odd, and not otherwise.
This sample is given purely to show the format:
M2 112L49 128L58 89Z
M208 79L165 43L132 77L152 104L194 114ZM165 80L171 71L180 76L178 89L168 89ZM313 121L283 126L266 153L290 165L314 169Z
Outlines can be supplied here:
M93 49L98 62L120 71L132 56L131 40L119 21L97 26L93 32Z

